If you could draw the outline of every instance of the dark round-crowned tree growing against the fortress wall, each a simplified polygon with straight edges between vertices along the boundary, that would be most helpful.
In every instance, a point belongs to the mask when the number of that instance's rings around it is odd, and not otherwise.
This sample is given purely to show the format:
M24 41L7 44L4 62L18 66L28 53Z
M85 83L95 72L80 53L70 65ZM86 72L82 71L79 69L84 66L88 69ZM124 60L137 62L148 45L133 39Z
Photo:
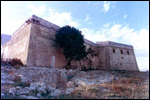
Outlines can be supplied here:
M72 60L80 61L87 55L84 36L81 33L78 29L67 25L60 28L55 35L55 42L63 49L67 59L66 68L71 67Z

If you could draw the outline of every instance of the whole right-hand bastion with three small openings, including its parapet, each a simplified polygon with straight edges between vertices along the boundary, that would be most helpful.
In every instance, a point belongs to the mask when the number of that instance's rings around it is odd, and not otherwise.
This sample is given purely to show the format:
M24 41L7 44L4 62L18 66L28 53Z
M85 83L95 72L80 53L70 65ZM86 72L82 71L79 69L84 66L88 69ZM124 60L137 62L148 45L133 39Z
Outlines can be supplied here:
M100 51L100 67L104 70L139 71L133 46L115 42L97 43Z

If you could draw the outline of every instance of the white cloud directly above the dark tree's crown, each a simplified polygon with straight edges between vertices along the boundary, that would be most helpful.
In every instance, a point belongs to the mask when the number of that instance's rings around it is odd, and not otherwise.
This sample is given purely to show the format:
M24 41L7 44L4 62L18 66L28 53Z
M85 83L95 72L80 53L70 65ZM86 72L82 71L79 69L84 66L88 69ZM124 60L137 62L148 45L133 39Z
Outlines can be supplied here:
M50 8L48 16L45 16L43 18L61 27L64 25L70 25L74 27L79 26L79 20L73 19L70 12L59 13L55 9Z

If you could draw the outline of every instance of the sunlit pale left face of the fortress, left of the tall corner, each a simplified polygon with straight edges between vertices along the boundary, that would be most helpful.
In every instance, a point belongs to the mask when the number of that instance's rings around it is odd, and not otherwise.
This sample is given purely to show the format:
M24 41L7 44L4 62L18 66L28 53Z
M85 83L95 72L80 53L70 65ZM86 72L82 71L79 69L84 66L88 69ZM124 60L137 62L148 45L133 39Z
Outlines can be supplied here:
M16 31L11 40L2 46L4 58L18 58L26 64L30 27L30 24L24 24L24 28Z

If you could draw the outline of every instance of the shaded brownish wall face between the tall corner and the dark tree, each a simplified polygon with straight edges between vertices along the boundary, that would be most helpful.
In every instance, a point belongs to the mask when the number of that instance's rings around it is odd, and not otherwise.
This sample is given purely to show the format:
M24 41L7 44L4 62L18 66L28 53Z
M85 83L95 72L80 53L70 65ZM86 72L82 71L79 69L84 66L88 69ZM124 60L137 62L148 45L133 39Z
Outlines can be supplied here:
M28 66L51 67L52 57L55 56L55 67L64 68L66 65L62 49L55 47L54 34L56 31L32 23L28 51Z

